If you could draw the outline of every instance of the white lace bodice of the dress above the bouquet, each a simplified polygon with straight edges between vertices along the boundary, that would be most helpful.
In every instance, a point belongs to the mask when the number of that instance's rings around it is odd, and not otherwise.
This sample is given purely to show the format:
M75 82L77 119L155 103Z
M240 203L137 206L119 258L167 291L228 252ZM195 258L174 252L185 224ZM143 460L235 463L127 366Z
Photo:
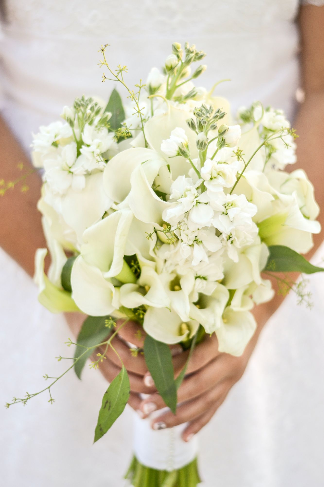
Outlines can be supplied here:
M312 0L311 3L324 3ZM9 123L27 146L30 131L81 94L108 97L97 67L101 44L134 84L162 65L175 40L208 53L202 80L234 108L260 98L292 116L298 86L297 0L6 0L0 83ZM257 8L256 7L257 4ZM8 114L9 114L8 112ZM5 115L6 116L6 115Z

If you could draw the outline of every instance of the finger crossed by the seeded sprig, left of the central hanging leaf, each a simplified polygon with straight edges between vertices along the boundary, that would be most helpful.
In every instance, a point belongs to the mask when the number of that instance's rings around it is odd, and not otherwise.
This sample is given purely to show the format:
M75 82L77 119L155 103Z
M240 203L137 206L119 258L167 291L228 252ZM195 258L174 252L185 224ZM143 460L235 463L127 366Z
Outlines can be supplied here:
M141 352L137 352L137 355L132 355L130 348L117 336L111 340L111 345L120 356L127 371L134 372L138 375L144 375L147 372L144 356L141 354ZM104 354L106 348L107 347L103 345L100 347L100 352ZM120 359L111 347L108 347L106 356L115 365L120 365Z

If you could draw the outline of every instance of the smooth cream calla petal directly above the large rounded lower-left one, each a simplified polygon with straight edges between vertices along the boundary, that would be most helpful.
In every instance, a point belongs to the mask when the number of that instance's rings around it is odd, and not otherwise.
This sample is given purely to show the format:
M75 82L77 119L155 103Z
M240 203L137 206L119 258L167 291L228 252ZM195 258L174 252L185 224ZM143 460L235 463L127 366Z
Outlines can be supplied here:
M123 268L132 219L129 209L115 211L83 234L81 255L86 262L98 267L105 278L117 276Z

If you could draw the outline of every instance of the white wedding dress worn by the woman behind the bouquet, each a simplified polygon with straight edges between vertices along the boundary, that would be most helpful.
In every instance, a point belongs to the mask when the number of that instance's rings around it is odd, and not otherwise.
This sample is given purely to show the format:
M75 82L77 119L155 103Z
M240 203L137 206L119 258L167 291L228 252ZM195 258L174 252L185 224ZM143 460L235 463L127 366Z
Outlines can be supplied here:
M208 53L201 83L233 101L260 99L290 118L299 86L297 0L7 0L0 37L2 115L28 152L31 132L56 119L76 95L103 98L101 44L112 66L128 66L129 83L162 65L173 41ZM309 1L308 1L309 3ZM310 1L324 4L324 1ZM121 92L122 93L122 92ZM19 161L17 161L19 162ZM1 176L1 171L0 171ZM17 238L25 238L17 235ZM324 248L314 262L320 262ZM43 386L65 364L68 331L36 300L25 273L0 251L0 401ZM314 309L293 295L270 319L247 371L203 430L200 464L206 487L324 485L323 278L311 277ZM68 350L68 352L66 351ZM126 409L92 446L102 395L99 372L58 382L55 404L41 394L25 408L1 411L0 471L6 487L120 487L131 457Z

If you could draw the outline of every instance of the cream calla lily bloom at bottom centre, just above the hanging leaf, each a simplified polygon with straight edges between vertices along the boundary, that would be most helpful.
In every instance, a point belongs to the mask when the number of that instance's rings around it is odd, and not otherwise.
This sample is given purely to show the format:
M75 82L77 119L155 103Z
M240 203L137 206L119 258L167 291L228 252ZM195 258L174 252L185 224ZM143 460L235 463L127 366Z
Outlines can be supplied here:
M143 324L148 335L170 345L193 337L198 327L198 321L184 322L175 311L167 308L148 308Z

